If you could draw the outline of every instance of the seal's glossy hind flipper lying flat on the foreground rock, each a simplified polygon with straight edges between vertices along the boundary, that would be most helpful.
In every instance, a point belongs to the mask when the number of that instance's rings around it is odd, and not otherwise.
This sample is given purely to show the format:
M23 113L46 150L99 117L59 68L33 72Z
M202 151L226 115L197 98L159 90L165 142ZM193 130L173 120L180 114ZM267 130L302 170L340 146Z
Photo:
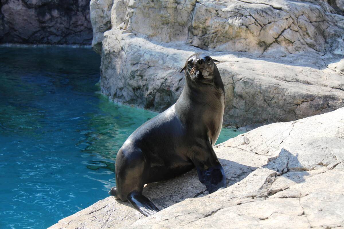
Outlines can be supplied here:
M137 191L129 193L128 201L144 216L150 216L159 211L159 209L155 207L155 205L146 196Z

